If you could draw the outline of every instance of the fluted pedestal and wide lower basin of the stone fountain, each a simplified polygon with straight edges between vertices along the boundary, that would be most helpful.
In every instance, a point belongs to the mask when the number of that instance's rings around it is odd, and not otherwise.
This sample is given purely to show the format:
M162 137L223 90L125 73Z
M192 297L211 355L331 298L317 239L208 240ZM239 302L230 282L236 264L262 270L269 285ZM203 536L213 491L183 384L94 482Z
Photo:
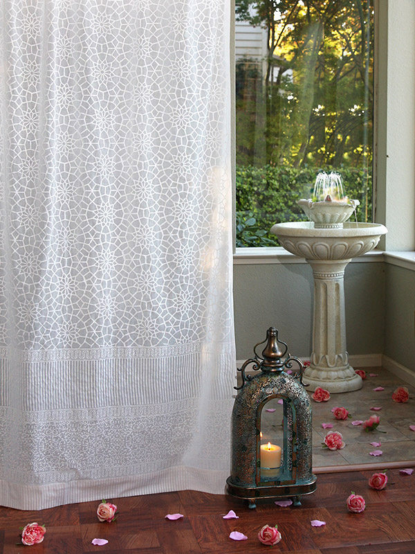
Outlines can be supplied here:
M342 229L315 229L312 223L277 223L271 229L289 252L306 258L314 276L313 352L303 381L330 393L357 391L362 379L349 364L344 310L344 268L351 258L376 247L385 226L344 223Z

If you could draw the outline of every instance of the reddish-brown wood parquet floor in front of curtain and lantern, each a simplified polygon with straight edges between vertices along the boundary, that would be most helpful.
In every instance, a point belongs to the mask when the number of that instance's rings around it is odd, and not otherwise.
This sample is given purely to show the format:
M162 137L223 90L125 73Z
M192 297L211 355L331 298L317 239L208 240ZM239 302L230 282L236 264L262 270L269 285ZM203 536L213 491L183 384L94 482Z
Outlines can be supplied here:
M111 499L118 506L118 520L100 523L95 515L99 501L59 506L40 512L0 508L0 553L24 554L17 545L19 528L37 521L47 532L44 542L32 546L33 554L256 554L266 552L257 533L265 524L278 524L282 541L272 552L286 554L414 554L415 473L389 470L387 488L369 488L372 472L320 474L317 491L303 497L302 507L280 508L262 501L250 510L244 501L225 495L182 491L143 497ZM351 491L362 494L365 512L351 514L346 499ZM110 501L110 499L107 499ZM234 510L239 519L223 519ZM168 513L183 519L169 521ZM326 526L311 527L311 519ZM229 538L237 530L248 540ZM91 544L95 537L105 546Z

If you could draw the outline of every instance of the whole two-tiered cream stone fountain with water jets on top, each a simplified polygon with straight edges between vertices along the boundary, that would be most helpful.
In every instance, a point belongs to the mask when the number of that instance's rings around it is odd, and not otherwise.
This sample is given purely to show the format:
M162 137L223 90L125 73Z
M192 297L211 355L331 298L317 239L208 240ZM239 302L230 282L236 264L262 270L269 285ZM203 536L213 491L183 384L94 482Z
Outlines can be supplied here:
M313 199L298 202L309 222L277 223L271 233L311 265L314 276L313 352L303 381L330 393L357 391L362 379L349 364L344 311L344 268L376 247L387 233L377 223L347 222L358 200L344 197L338 173L317 175Z

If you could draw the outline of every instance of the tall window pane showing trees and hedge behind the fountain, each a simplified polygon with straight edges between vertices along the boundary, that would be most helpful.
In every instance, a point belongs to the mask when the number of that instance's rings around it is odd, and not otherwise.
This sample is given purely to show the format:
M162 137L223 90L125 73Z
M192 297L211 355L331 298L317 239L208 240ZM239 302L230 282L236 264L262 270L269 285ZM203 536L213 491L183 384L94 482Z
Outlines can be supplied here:
M371 221L373 0L237 0L237 246L306 220L320 171Z

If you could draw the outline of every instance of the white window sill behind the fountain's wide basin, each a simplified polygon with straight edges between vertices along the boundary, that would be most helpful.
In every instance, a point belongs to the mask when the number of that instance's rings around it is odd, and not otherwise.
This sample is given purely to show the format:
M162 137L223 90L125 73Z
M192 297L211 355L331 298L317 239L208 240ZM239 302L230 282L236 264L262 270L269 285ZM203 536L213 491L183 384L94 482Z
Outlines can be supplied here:
M403 254L403 252L400 252ZM414 253L412 252L412 255ZM305 264L305 258L294 256L282 247L259 247L259 248L237 248L234 256L234 265L249 264ZM383 252L381 250L372 250L363 256L353 258L352 262L383 262ZM396 264L398 265L398 264ZM406 266L404 266L406 267ZM413 269L415 269L415 262Z

